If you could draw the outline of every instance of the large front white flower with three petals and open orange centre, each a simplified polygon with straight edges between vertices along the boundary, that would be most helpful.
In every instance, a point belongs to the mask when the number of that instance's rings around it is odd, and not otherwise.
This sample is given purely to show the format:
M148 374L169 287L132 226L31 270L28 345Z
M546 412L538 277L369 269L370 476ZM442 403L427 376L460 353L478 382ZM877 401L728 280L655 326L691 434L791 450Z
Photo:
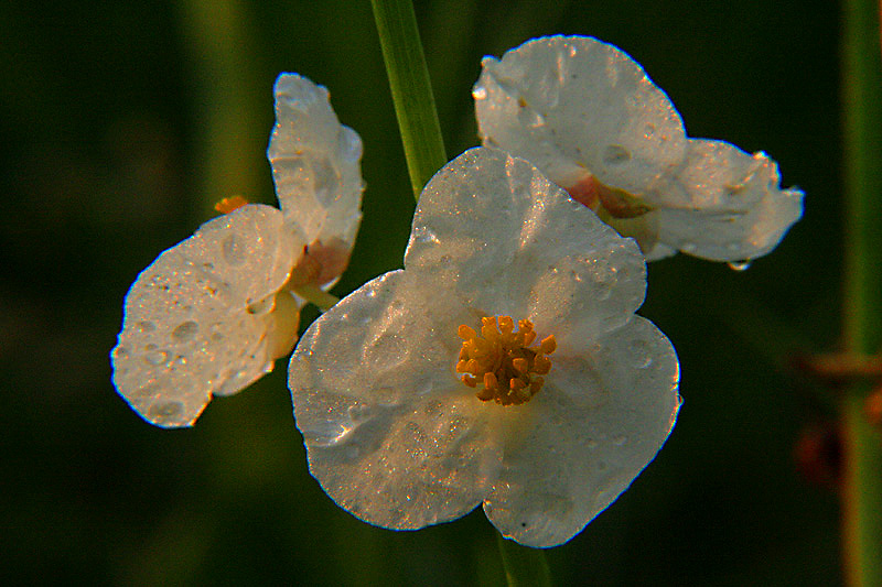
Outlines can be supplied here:
M508 537L567 542L679 407L674 348L634 315L645 272L633 240L530 163L465 152L423 191L405 269L342 300L291 358L310 471L384 528L483 502Z

